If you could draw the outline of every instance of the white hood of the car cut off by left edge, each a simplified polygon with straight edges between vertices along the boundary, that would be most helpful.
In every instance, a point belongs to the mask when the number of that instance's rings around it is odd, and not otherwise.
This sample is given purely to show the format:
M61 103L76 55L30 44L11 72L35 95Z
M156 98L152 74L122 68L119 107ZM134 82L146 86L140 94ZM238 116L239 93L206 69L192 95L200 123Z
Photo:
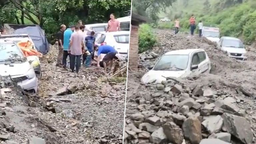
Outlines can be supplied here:
M31 65L28 61L23 63L13 63L13 66L0 64L0 75L1 76L18 76L25 75L29 69L31 69Z

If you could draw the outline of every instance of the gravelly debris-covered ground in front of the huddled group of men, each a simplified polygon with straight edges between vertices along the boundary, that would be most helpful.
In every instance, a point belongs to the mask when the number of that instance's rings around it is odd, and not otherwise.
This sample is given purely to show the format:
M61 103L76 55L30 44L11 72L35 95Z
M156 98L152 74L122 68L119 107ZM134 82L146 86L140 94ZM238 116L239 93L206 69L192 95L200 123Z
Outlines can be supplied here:
M12 82L1 81L1 88L11 89L1 95L1 143L122 143L126 78L106 83L96 66L71 73L55 67L56 57L52 46L41 59L37 95L24 96Z

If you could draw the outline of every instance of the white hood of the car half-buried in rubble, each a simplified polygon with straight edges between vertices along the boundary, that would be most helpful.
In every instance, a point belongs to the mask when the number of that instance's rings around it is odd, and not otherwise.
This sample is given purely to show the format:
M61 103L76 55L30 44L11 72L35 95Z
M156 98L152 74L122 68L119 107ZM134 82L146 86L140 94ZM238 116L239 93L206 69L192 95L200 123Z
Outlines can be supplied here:
M164 77L185 77L186 71L155 71L150 70L147 72L142 78L141 82L144 84L152 83L155 81L155 83L161 83L162 81L165 81L166 78ZM164 76L164 77L162 77Z

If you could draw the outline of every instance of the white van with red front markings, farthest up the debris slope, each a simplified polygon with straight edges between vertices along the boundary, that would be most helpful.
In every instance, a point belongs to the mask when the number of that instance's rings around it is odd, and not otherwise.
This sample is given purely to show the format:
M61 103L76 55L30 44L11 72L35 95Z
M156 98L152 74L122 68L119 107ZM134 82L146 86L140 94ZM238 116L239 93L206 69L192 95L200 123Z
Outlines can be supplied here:
M220 29L216 27L203 27L202 36L212 42L218 42L220 40Z

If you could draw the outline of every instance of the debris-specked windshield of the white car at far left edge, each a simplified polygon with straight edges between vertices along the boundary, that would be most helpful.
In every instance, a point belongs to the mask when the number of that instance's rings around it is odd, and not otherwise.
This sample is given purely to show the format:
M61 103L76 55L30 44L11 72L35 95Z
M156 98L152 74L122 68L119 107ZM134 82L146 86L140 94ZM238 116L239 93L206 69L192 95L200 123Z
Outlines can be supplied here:
M0 62L20 61L24 59L22 51L13 43L0 43Z

